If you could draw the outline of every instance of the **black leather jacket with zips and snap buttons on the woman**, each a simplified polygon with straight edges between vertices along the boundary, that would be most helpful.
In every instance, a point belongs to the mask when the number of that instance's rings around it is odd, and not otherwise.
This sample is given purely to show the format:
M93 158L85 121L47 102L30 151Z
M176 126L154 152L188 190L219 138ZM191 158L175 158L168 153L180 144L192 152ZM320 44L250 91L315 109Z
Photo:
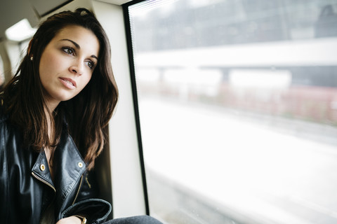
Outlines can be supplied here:
M95 181L86 172L66 125L54 158L52 181L44 151L23 148L21 132L0 113L1 223L40 223L51 204L55 222L72 215L86 216L88 223L101 223L107 218L111 205L95 199Z

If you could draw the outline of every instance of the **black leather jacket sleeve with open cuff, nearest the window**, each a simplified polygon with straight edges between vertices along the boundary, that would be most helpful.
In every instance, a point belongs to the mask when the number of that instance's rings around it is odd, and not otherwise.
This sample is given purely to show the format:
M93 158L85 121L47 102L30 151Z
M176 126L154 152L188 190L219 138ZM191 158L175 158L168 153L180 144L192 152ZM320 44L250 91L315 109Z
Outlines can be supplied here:
M85 172L81 177L81 186L72 206L62 212L61 218L79 215L87 219L87 223L103 223L112 207L109 202L98 198L99 190L95 175Z

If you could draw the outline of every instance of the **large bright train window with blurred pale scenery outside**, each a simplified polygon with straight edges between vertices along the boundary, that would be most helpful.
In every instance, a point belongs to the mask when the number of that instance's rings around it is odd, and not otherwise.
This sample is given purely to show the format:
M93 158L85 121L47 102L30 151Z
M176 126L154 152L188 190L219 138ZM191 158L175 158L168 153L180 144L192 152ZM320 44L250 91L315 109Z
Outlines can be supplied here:
M150 211L337 222L337 3L128 6Z

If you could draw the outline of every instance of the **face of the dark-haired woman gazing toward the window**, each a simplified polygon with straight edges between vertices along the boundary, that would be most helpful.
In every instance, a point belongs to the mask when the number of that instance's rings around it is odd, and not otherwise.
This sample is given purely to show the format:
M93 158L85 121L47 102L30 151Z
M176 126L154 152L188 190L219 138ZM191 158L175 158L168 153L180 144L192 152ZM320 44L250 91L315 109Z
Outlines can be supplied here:
M88 84L98 62L100 43L93 32L71 25L61 29L42 52L39 75L53 110Z

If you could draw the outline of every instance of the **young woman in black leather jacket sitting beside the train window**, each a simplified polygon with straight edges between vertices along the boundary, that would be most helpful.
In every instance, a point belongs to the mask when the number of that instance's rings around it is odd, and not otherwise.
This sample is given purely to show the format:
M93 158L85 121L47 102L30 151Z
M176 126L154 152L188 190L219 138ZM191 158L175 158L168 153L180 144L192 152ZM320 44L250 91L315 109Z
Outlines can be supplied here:
M110 44L93 14L80 8L43 22L1 93L1 223L105 221L111 205L91 173L117 99ZM116 221L142 220L157 223Z

